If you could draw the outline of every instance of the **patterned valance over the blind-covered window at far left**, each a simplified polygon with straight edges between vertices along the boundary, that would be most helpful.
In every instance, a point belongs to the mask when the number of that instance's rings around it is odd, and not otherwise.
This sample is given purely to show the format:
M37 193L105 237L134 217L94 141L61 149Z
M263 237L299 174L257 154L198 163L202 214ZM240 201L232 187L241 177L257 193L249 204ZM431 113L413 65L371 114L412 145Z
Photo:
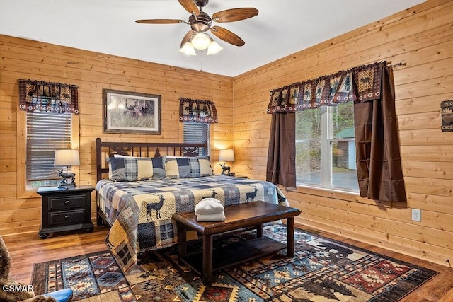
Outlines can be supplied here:
M18 82L20 110L79 115L79 86L35 80Z

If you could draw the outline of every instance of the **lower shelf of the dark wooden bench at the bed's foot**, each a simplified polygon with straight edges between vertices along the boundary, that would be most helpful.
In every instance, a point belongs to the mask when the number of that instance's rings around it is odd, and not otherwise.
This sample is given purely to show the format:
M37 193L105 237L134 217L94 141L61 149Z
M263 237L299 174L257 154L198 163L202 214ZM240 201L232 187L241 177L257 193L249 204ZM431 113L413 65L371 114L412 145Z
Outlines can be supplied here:
M233 243L222 248L216 248L212 251L212 271L214 272L242 262L255 260L273 254L284 248L286 248L284 243L280 243L266 236ZM183 257L183 262L194 269L195 272L202 274L202 252Z

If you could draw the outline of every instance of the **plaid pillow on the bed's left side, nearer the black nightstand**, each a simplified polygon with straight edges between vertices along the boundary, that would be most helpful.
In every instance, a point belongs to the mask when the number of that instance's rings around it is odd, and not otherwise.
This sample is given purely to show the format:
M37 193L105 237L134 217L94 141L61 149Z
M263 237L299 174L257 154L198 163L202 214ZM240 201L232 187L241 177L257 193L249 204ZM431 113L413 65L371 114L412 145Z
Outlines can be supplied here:
M108 178L112 181L161 180L165 178L164 164L161 157L110 157Z

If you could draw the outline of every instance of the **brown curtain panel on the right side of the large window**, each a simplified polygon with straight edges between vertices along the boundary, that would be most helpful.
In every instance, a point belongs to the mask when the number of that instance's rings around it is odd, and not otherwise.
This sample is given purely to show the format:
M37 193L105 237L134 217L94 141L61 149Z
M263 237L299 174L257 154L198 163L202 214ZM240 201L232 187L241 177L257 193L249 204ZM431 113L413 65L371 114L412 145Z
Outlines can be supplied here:
M360 196L405 202L391 68L382 69L380 99L354 104L354 122Z

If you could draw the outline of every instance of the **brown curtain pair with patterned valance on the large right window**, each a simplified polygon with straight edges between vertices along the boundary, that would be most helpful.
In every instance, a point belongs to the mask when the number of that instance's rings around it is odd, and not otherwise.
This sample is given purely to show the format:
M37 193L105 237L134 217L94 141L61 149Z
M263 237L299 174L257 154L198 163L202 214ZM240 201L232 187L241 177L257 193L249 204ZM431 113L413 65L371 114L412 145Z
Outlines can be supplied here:
M354 102L360 196L406 201L396 124L394 81L386 62L293 83L270 91L272 114L266 179L294 187L294 112ZM293 124L290 124L293 123ZM294 152L294 153L293 153Z

